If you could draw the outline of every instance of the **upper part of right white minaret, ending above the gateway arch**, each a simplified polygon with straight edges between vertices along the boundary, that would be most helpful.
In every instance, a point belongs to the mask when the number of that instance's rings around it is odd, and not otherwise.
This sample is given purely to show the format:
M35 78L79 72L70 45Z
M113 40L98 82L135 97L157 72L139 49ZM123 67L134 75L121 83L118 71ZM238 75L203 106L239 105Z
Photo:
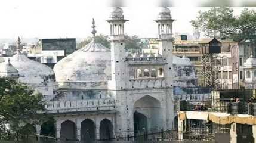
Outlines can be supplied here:
M174 20L171 18L169 8L162 7L155 21L158 23L159 54L161 54L168 63L164 69L166 86L172 87L172 22Z

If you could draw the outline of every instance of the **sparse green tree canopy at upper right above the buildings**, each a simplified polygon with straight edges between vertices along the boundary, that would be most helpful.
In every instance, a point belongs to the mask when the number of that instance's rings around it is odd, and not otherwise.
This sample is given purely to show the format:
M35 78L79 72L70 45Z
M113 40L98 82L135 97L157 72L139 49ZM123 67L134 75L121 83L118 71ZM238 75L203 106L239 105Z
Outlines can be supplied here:
M245 8L239 16L233 15L232 8L211 8L208 11L199 11L192 26L201 30L206 36L215 38L255 39L256 12Z

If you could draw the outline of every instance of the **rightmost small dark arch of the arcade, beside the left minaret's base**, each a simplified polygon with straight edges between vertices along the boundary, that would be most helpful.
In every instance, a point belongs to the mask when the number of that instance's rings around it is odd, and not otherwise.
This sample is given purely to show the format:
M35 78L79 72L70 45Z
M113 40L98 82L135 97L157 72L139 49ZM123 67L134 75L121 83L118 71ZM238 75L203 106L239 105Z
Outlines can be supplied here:
M100 140L113 138L113 125L110 120L104 119L100 122Z

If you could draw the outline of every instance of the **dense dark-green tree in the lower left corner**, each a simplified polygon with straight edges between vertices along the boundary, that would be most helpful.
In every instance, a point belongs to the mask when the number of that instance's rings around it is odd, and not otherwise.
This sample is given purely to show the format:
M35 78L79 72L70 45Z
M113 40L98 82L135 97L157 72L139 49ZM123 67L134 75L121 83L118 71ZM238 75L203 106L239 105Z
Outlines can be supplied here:
M35 133L35 125L44 120L42 99L42 94L28 86L0 78L0 133L14 133L16 138Z

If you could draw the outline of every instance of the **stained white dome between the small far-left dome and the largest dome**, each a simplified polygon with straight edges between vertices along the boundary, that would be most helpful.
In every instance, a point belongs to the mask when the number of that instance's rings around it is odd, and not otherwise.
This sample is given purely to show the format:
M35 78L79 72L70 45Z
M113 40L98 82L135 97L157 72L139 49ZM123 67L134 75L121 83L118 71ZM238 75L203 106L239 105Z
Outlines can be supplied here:
M18 70L18 80L30 86L47 85L48 82L55 80L50 67L30 60L23 54L18 53L11 57L10 63Z

